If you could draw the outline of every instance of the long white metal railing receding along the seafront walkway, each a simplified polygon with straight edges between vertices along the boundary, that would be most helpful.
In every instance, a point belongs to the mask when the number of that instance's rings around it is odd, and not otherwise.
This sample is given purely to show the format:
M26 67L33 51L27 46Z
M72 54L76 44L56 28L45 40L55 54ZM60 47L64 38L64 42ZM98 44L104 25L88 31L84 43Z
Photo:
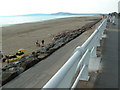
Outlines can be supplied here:
M92 35L78 46L69 60L43 86L45 88L75 88L79 80L89 80L88 65L91 56L96 56L96 47L99 45L106 28L107 18L92 33ZM77 75L77 77L76 77Z

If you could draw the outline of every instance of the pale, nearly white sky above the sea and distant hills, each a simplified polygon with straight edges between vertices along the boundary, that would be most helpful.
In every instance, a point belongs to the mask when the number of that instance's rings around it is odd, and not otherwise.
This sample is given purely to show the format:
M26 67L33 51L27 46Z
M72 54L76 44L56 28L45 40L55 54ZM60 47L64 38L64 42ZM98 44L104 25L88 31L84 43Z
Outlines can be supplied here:
M36 13L118 12L120 0L0 0L0 16Z

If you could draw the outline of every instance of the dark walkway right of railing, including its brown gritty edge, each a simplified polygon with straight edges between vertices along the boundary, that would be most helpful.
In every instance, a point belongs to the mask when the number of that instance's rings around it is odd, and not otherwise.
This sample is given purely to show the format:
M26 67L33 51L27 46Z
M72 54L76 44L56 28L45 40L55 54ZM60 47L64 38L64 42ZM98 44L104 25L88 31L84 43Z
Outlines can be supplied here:
M77 88L116 88L118 89L118 56L120 48L120 19L115 19L116 25L107 23L105 38L102 39L100 71L91 75L89 81L79 81ZM97 60L98 61L98 60ZM96 62L96 61L95 61Z

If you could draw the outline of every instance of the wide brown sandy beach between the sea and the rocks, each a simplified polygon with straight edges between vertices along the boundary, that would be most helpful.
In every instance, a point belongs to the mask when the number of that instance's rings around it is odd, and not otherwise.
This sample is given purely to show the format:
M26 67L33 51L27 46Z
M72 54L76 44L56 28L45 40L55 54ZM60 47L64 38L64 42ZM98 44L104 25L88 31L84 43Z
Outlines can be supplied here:
M45 44L48 44L54 35L63 31L76 30L97 18L101 17L70 17L3 27L2 51L6 54L14 54L18 49L24 48L26 53L31 53L39 49L35 46L36 40L40 43L41 40L45 40Z

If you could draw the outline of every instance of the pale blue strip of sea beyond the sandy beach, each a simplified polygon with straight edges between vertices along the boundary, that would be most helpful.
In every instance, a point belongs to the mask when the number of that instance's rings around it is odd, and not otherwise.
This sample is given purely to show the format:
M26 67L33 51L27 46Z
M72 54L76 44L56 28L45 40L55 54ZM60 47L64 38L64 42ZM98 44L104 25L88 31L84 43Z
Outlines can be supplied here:
M42 22L58 18L79 17L88 15L28 15L28 16L0 16L0 27L14 24Z

